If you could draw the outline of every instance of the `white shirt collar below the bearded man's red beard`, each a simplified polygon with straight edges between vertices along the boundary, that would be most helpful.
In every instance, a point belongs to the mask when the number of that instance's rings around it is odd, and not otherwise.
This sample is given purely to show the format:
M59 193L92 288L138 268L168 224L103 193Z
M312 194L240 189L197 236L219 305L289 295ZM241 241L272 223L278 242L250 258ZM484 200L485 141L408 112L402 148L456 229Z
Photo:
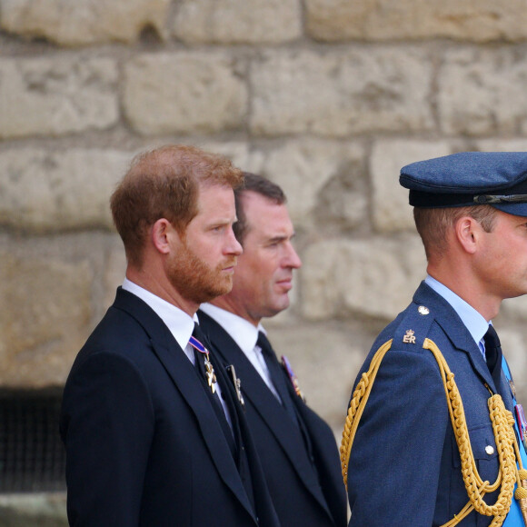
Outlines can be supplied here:
M174 304L166 302L163 298L157 296L154 293L150 293L131 282L127 278L124 278L123 289L129 293L135 294L145 303L147 303L154 312L163 320L166 327L170 330L170 333L174 335L174 339L180 345L182 350L185 350L188 341L194 331L194 322L197 322L197 316L194 314L194 318L189 314L184 313L183 310L176 307ZM194 362L194 361L193 361Z

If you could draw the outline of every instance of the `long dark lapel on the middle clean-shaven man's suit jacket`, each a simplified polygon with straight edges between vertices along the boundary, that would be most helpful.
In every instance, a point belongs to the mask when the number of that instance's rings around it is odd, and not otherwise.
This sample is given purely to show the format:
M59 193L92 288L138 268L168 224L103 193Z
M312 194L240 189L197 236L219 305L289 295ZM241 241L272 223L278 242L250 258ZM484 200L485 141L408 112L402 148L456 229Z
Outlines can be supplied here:
M259 413L276 441L283 448L283 452L291 460L300 479L327 511L327 505L313 468L308 457L303 453L305 452L303 442L298 441L298 439L302 441L302 438L292 430L295 425L289 423L290 418L285 413L283 406L276 400L259 373L254 369L253 364L234 342L234 339L225 332L224 328L206 313L200 311L198 316L200 321L203 321L202 327L206 324L206 333L208 333L215 353L222 355L226 363L235 364L236 374L242 381L244 398L252 403L256 412ZM330 514L329 511L328 514Z

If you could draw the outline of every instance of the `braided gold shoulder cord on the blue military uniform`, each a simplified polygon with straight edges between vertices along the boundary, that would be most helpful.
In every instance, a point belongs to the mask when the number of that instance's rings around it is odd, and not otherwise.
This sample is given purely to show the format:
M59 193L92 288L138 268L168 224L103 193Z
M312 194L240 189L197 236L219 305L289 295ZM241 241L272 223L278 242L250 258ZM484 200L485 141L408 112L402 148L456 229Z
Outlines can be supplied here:
M348 463L352 451L353 439L363 415L364 407L372 391L373 381L379 371L381 361L383 360L384 355L390 350L392 342L393 339L384 343L377 350L373 356L372 362L370 363L368 372L363 373L361 381L357 384L357 387L353 392L353 397L344 424L343 440L340 449L343 480L346 488L348 482ZM465 516L467 516L467 514L472 512L472 510L485 516L494 516L491 527L500 527L511 508L512 491L515 482L518 483L518 489L515 492L516 499L522 500L522 502L527 501L524 500L527 498L527 489L522 488L522 480L527 480L527 471L523 470L522 467L522 458L520 456L513 428L514 418L512 413L505 408L501 395L494 394L491 396L488 401L489 414L498 451L500 471L498 472L496 481L492 484L486 481L483 482L478 473L472 453L462 399L457 385L453 380L454 375L444 360L441 351L433 341L425 339L423 349L430 350L439 365L448 410L452 421L452 428L461 456L462 478L469 496L469 502L462 508L462 511L455 514L452 520L444 523L442 527L453 527L453 525L457 525ZM516 467L516 460L520 463L519 471ZM483 501L485 493L493 492L500 486L501 490L496 502L493 505L485 503ZM525 517L525 513L523 514L523 517Z

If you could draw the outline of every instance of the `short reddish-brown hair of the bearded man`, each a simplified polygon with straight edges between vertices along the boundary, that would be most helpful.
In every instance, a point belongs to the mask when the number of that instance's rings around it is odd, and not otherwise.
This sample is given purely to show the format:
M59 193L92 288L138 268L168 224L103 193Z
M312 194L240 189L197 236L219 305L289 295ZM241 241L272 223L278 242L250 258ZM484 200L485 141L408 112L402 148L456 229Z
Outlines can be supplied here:
M242 184L227 158L195 146L168 144L134 157L110 199L128 262L140 266L149 228L165 218L180 233L198 213L199 184Z

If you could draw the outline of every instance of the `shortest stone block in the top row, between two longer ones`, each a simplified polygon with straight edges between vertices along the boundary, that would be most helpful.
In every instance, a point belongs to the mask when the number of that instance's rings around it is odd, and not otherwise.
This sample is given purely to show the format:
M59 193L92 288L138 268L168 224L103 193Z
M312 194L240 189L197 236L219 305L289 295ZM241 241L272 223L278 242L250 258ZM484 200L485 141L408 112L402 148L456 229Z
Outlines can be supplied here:
M279 44L302 35L299 0L184 0L174 35L187 43Z

